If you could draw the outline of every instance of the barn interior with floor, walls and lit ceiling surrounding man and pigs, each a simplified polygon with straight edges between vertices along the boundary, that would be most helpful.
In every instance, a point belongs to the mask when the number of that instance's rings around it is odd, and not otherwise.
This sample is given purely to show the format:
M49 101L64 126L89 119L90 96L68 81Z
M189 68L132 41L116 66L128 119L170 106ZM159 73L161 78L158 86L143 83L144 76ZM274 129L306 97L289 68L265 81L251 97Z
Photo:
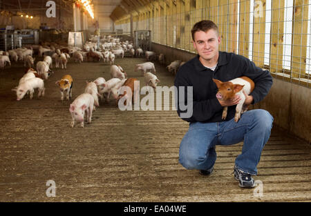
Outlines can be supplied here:
M310 10L311 0L0 0L0 57L10 59L0 68L0 201L310 202ZM254 177L263 194L239 188L232 175L243 142L216 146L209 177L178 163L189 124L178 117L173 92L159 106L155 99L157 109L149 106L152 99L146 103L147 94L136 110L100 100L91 124L70 127L70 104L86 81L111 79L113 64L142 88L144 75L135 65L151 61L158 86L173 86L176 71L168 66L196 57L191 28L203 19L217 24L220 51L243 55L273 77L265 99L249 108L274 117ZM12 89L28 62L23 52L15 61L10 50L23 48L32 50L35 70L57 49L69 57L59 67L53 59L44 97L36 90L32 99L17 101ZM109 50L113 61L105 57ZM61 100L55 82L68 74L73 97Z

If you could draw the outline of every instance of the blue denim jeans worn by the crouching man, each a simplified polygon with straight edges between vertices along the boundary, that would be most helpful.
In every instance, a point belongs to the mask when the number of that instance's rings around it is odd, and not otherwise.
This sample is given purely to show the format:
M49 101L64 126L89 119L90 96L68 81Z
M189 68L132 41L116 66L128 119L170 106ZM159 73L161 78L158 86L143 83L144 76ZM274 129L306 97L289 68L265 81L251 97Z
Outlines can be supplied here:
M216 161L216 145L229 146L244 140L241 155L236 157L239 170L257 175L257 164L267 143L273 117L266 110L249 110L241 119L222 122L189 124L180 143L179 162L187 169L208 170Z

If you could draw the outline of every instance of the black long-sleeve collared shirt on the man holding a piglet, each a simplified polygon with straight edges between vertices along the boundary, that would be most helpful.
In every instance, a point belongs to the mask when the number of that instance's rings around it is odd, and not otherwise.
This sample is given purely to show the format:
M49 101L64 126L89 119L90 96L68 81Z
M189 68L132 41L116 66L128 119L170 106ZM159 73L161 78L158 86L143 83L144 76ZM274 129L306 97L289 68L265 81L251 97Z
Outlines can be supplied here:
M234 118L236 105L229 106L227 118L221 119L223 107L216 99L218 88L212 78L220 81L229 81L237 77L249 77L255 83L254 90L250 93L254 100L252 104L261 101L272 86L272 77L268 70L262 70L255 66L254 62L246 57L232 52L219 52L218 63L215 70L210 70L199 61L199 55L183 64L176 74L174 86L177 87L175 97L178 104L187 105L187 86L193 86L193 113L191 117L182 117L189 122L219 122ZM185 86L185 97L178 98L179 87ZM177 106L177 112L187 112Z

